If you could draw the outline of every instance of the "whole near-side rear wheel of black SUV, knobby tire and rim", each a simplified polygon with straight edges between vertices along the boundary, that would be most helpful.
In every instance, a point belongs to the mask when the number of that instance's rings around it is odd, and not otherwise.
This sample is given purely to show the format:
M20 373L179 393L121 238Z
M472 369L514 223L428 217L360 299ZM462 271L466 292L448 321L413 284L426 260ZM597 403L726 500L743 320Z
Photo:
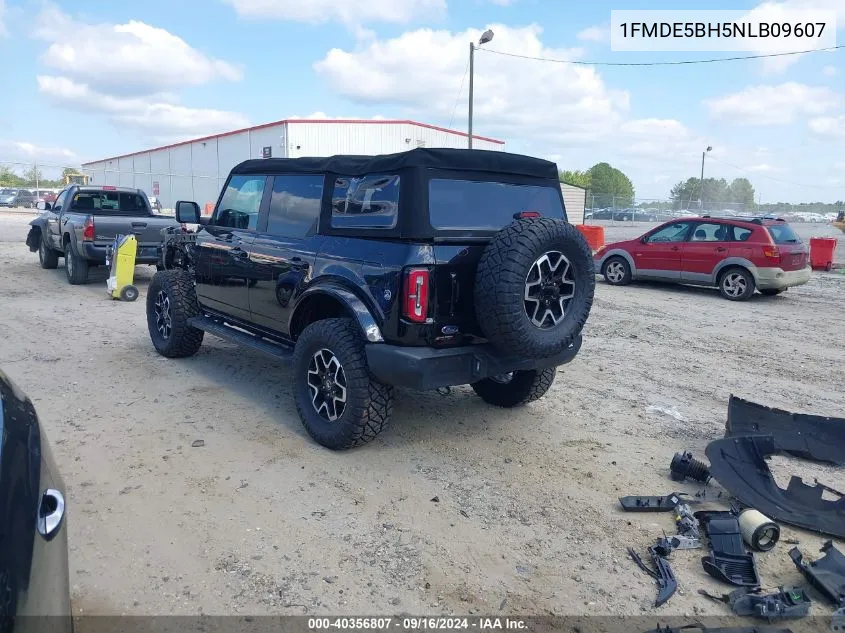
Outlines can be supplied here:
M326 448L366 444L393 412L393 387L370 374L364 345L352 319L312 323L296 342L296 410L308 434Z

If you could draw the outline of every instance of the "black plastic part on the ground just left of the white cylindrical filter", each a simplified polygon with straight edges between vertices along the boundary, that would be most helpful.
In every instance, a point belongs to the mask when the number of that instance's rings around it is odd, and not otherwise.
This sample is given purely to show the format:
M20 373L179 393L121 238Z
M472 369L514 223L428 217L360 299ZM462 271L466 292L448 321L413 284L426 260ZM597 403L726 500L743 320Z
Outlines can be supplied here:
M696 512L710 540L710 554L701 559L704 571L738 587L759 587L754 555L745 549L739 520L733 512Z

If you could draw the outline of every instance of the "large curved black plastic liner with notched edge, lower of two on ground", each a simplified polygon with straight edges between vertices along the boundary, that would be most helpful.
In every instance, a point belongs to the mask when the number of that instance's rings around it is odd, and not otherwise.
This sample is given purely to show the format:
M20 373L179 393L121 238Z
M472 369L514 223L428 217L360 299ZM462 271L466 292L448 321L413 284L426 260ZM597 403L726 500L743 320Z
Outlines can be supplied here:
M743 505L774 521L845 538L845 497L822 498L835 491L823 484L808 486L792 477L786 490L772 477L766 457L777 453L774 437L727 437L706 449L713 477Z

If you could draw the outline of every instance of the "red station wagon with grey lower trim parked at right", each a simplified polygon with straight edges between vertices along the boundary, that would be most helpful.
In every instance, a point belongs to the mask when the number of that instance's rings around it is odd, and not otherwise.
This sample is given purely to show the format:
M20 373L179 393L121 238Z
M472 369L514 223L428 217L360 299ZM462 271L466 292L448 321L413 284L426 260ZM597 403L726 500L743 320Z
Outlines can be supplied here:
M784 220L683 218L641 237L608 244L594 261L608 283L635 279L715 286L742 301L756 288L777 295L810 280L809 251Z

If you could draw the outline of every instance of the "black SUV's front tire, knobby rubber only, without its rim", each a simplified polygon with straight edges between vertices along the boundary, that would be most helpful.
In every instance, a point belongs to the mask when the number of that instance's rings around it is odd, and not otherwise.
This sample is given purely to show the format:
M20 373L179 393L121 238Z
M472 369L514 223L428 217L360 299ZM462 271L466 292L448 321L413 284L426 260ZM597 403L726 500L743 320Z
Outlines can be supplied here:
M170 334L158 329L156 301L163 292L169 300ZM186 358L197 353L204 332L188 325L188 319L200 315L193 279L184 270L165 270L153 276L147 290L147 329L156 351L167 358Z

